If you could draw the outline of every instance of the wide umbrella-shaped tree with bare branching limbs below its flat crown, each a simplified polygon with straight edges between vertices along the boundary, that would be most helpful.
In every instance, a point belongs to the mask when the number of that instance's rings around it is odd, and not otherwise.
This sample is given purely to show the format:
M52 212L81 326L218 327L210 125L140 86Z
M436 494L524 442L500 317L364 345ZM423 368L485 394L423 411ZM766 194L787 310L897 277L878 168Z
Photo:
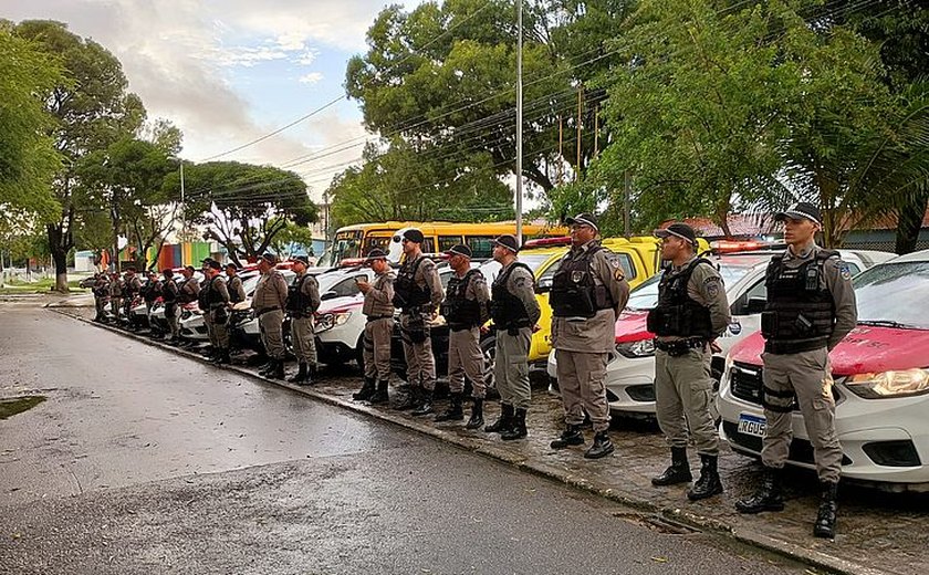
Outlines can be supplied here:
M237 161L210 161L185 168L190 190L188 217L207 227L205 239L226 248L232 261L259 258L291 220L299 226L316 221L316 206L306 184L292 171ZM171 175L166 185L177 190Z

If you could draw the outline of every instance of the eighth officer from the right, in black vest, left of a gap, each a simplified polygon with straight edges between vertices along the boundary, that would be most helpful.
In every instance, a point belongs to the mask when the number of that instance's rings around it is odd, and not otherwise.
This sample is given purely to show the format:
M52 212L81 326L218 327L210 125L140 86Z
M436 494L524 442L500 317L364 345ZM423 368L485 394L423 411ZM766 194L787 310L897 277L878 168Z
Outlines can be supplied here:
M288 378L292 384L311 385L316 373L316 343L313 314L320 309L320 284L306 273L310 261L305 255L293 260L296 279L288 290L286 311L291 318L291 343L296 356L296 374Z

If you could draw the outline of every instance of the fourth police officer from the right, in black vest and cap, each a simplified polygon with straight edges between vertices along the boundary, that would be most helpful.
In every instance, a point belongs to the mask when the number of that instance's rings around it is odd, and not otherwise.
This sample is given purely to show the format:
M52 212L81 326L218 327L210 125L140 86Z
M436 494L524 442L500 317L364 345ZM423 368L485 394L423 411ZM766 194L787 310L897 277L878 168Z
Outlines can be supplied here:
M525 414L532 399L529 387L529 347L542 310L535 300L532 270L516 261L520 248L510 234L493 240L493 259L501 268L491 285L490 316L497 331L493 377L500 393L500 418L484 431L504 440L528 435Z

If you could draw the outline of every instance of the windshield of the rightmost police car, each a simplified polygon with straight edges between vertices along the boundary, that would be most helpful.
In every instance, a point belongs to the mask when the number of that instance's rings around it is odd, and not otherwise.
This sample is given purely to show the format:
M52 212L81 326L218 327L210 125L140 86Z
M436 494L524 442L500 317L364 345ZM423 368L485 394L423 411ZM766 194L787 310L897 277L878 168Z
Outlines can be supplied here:
M858 323L929 330L929 262L883 263L853 280Z

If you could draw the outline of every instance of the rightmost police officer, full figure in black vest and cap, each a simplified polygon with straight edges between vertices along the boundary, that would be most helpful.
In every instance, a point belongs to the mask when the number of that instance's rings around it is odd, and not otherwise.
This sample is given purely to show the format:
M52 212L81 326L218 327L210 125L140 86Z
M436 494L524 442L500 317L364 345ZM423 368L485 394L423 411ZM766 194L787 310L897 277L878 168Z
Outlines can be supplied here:
M764 279L764 475L761 488L738 501L735 509L742 513L784 509L781 473L791 446L795 398L820 475L822 499L813 534L833 539L843 456L835 430L829 351L858 321L852 272L838 252L816 245L814 237L822 228L816 206L794 203L777 213L775 220L784 222L787 250L771 259Z

